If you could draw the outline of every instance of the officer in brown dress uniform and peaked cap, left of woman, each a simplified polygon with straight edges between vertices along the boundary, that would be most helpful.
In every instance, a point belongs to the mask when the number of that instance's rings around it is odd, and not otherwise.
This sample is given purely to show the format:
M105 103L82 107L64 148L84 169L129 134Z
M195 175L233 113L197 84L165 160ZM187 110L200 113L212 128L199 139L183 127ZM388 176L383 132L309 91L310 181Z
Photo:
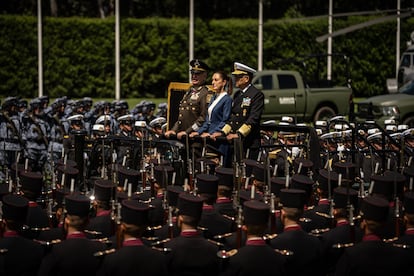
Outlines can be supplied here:
M178 120L171 130L165 133L166 137L177 135L178 139L185 134L197 131L204 123L209 92L205 85L209 67L199 59L190 61L191 87L183 96L178 113Z

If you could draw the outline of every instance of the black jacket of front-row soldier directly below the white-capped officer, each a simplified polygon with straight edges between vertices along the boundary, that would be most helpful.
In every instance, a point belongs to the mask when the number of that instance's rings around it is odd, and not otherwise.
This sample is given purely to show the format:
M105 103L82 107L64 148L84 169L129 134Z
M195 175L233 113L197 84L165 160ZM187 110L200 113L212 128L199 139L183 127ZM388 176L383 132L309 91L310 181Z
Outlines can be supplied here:
M285 259L263 239L248 240L236 255L230 257L223 276L285 275Z

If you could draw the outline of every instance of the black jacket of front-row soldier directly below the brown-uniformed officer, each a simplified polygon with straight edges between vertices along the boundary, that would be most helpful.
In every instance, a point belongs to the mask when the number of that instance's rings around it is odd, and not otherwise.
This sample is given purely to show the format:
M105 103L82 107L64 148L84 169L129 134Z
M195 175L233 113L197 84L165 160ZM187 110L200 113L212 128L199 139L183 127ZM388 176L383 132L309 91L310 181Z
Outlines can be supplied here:
M219 274L218 248L198 232L184 232L165 244L170 275L216 276Z

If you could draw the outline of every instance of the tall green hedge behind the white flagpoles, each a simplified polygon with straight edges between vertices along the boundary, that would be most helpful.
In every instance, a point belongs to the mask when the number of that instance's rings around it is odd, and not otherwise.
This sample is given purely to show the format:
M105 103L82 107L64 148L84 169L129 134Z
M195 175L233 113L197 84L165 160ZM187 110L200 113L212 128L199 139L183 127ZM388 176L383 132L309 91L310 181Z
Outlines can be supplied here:
M334 30L366 20L360 17L336 20ZM402 23L401 53L413 23L411 19ZM393 21L334 38L333 51L351 57L356 97L384 93L386 78L395 75L395 30ZM196 20L195 56L205 60L213 70L230 71L233 61L255 67L257 31L257 20ZM283 58L326 52L326 43L315 40L326 31L327 20L266 21L263 26L264 68L275 68ZM114 18L45 18L44 94L72 98L113 97L114 32ZM37 19L2 15L0 36L1 95L35 97L38 90ZM187 19L123 19L121 97L165 97L170 81L188 80L187 59ZM316 63L309 63L308 71L314 71L316 66ZM345 82L342 72L344 63L334 58L333 78Z

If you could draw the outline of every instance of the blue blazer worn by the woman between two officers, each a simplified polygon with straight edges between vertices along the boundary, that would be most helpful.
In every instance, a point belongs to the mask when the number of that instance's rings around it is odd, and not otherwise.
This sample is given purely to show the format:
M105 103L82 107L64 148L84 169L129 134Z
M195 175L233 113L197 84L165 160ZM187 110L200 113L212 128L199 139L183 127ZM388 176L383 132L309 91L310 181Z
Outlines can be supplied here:
M213 100L210 101L209 106L213 103ZM198 133L208 132L213 134L214 132L221 131L225 126L226 122L230 119L231 107L233 100L229 94L224 95L220 101L216 104L211 112L211 118L208 118L208 113L206 115L206 120L203 125L198 130Z

